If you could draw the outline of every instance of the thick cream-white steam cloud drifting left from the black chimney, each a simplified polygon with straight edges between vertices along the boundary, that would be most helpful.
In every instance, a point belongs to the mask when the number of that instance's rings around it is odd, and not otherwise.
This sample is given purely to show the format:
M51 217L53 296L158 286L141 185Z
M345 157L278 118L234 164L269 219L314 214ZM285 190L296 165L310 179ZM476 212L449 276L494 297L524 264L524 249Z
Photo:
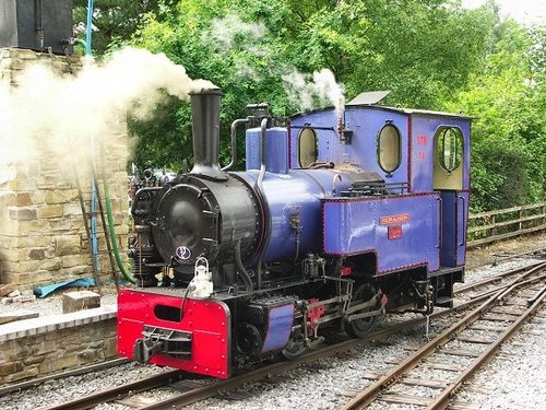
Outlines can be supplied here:
M129 110L145 118L164 96L159 90L187 99L190 91L210 87L165 55L135 48L104 65L86 61L76 75L35 63L17 77L17 86L0 82L0 183L9 163L32 161L38 147L59 162L88 161L91 138L116 138L111 126Z

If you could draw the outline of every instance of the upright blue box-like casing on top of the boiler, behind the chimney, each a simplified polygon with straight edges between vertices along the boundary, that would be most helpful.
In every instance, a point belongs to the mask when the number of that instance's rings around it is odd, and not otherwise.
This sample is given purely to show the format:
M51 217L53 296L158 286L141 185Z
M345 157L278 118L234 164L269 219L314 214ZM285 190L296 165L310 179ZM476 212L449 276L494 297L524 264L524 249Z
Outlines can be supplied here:
M261 139L262 132L260 128L247 130L247 171L260 169ZM286 128L268 128L265 132L265 169L275 174L286 174L288 172L288 130Z

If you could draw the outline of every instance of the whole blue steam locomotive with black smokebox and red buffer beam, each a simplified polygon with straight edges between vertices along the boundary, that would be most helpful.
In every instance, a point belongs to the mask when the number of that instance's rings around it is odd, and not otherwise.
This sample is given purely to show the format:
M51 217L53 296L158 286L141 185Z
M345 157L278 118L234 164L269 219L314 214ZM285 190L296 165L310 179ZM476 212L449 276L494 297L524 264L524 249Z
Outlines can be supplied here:
M118 297L120 355L227 378L332 331L363 337L385 312L452 305L470 118L363 93L284 128L266 104L250 105L221 168L221 91L190 96L193 168L132 204L139 286ZM246 171L232 172L241 126Z

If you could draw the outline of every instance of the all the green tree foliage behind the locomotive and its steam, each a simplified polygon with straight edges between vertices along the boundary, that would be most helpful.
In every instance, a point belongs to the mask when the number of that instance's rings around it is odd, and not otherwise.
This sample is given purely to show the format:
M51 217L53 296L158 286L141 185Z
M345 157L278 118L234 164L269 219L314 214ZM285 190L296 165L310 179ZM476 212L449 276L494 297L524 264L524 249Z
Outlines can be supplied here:
M84 21L86 0L75 0ZM298 110L286 78L328 68L346 99L391 90L385 104L475 117L472 207L544 199L545 27L501 21L495 0L95 0L94 49L122 44L165 52L191 78L223 90L221 162L232 120L248 103ZM78 19L76 19L78 20ZM324 104L324 102L321 102ZM134 161L178 168L191 159L190 109L166 98L139 136ZM239 138L239 141L241 139ZM238 147L239 157L242 144Z

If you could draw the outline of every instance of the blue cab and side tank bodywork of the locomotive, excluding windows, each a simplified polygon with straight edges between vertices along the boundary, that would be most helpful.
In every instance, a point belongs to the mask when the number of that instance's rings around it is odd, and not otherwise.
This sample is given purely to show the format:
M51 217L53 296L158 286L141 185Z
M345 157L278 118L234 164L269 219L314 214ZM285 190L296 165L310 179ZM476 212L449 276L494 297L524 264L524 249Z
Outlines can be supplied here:
M388 121L400 130L402 137L401 166L391 176L379 167L377 159L377 137ZM470 190L470 118L360 105L345 107L344 125L353 131L351 144L339 139L337 116L333 108L295 116L289 128L290 166L298 165L300 129L311 127L319 138L318 161L331 161L336 168L353 165L364 172L375 172L388 184L407 183L410 194L426 196L383 197L379 201L377 198L325 201L324 250L334 255L375 251L379 272L415 263L427 263L429 270L436 270L440 265L463 266ZM458 127L463 136L463 181L460 191L435 192L434 189L434 137L440 127ZM411 222L403 226L402 238L384 239L388 227L378 225L378 212L411 214Z

